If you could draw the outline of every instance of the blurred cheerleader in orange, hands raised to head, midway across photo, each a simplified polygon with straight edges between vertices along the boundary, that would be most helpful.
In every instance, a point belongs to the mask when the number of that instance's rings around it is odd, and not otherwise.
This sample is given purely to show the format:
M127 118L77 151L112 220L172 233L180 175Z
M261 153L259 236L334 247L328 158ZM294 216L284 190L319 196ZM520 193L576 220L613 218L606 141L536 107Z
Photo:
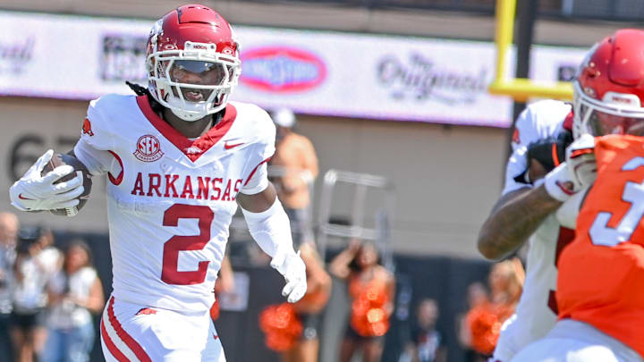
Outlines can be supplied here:
M351 298L349 325L340 346L340 362L360 350L364 362L380 360L389 316L394 311L394 275L380 265L376 246L351 240L329 265L335 277L347 280Z

